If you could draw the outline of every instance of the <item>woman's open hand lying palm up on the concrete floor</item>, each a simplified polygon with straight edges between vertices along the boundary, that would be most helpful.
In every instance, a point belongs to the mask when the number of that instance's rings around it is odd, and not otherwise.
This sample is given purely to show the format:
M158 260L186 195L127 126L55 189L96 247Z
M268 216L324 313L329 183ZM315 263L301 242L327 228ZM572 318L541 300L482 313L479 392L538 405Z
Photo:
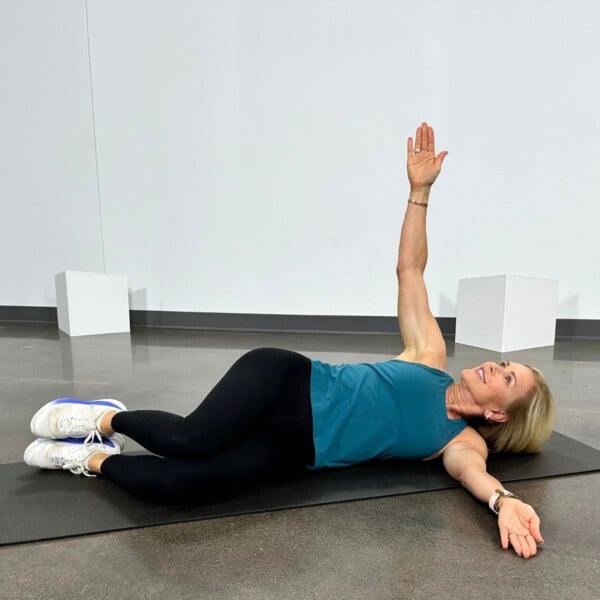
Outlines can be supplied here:
M535 510L521 500L504 498L499 513L498 529L502 547L506 550L510 544L519 556L534 556L537 544L544 543L540 533L540 518Z

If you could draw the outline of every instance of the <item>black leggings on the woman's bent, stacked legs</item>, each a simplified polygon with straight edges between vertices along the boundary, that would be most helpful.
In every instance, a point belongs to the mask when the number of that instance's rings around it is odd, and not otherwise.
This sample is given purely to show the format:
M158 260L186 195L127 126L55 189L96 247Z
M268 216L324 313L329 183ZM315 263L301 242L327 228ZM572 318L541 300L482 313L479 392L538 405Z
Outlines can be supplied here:
M113 429L158 456L116 455L102 474L154 502L201 502L315 460L310 360L259 348L239 358L198 408L116 414Z

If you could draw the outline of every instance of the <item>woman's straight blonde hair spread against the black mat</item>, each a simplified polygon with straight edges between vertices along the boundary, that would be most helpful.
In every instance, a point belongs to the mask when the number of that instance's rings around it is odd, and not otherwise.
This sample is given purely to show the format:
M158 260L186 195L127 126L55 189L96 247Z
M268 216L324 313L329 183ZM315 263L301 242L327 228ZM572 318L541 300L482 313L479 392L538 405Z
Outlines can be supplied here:
M531 369L535 385L529 394L509 404L508 421L488 423L479 419L472 423L491 452L539 452L552 433L554 399L548 384L538 369L525 366Z

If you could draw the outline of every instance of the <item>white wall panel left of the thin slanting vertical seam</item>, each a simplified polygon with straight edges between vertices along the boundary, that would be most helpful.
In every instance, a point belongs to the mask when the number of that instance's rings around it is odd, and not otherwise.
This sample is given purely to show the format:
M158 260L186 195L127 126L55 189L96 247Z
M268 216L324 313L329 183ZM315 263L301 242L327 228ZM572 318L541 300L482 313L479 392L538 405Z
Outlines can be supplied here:
M84 8L0 2L0 304L56 306L55 273L103 270Z

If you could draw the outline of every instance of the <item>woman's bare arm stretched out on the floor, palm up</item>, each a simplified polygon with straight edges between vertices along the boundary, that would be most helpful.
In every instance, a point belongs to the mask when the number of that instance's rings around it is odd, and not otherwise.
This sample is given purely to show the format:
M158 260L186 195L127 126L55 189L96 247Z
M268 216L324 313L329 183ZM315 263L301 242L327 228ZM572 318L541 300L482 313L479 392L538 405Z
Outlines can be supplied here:
M483 439L475 443L456 443L444 450L444 466L448 473L459 481L475 498L488 501L502 484L486 469L487 448ZM498 501L498 530L502 547L512 545L519 556L529 558L537 552L536 542L543 544L540 533L540 518L525 502L515 498L500 498Z

